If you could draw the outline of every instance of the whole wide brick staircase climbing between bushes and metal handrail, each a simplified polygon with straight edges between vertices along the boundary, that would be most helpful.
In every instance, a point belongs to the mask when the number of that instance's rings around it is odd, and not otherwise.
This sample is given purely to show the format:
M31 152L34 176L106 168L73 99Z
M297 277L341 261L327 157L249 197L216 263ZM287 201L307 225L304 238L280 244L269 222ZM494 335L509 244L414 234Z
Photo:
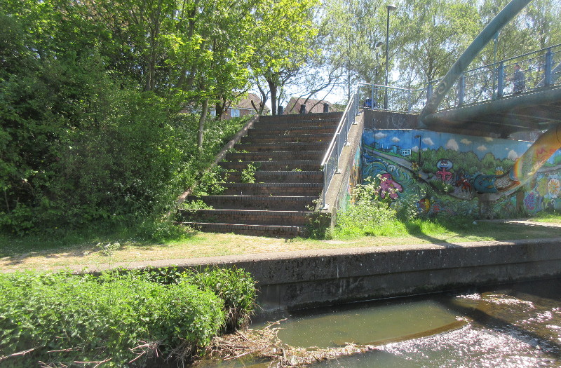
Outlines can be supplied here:
M321 160L341 115L261 116L219 163L226 170L224 192L186 198L212 210L180 210L180 222L209 232L304 235L323 189Z

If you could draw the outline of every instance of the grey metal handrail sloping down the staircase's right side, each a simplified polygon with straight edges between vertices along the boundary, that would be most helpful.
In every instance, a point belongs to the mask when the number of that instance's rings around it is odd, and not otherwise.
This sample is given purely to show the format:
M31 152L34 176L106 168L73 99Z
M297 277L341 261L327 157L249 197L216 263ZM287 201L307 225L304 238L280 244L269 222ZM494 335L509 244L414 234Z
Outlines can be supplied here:
M333 175L337 172L341 172L339 169L339 157L343 151L343 147L346 144L347 136L349 135L349 130L351 126L355 123L355 117L358 115L358 91L353 93L349 98L349 102L346 104L345 112L337 125L337 130L331 139L331 143L327 148L327 152L323 157L321 162L321 170L323 171L323 209L327 210L327 203L325 203L325 195L327 193L327 188L331 183Z

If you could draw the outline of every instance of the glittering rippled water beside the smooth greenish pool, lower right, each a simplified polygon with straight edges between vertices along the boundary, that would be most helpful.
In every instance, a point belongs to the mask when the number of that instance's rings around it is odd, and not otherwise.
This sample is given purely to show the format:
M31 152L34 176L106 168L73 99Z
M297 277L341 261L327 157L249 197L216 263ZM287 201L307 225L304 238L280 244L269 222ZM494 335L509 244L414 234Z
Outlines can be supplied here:
M435 300L468 323L317 367L560 367L561 279Z

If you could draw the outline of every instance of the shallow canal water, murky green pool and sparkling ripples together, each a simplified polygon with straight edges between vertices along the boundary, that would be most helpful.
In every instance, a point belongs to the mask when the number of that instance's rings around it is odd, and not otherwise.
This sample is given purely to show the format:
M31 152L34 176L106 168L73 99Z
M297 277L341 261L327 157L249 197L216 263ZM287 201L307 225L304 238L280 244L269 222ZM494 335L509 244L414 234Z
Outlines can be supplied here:
M561 367L561 278L302 311L280 327L291 346L377 348L318 368Z

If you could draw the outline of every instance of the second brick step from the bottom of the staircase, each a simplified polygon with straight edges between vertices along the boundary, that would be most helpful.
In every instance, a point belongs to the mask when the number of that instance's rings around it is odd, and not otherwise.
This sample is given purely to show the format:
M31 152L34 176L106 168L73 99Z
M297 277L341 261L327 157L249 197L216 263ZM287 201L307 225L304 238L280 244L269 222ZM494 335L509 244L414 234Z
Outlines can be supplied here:
M251 224L306 226L313 212L261 210L180 210L181 222L216 222L219 224Z

